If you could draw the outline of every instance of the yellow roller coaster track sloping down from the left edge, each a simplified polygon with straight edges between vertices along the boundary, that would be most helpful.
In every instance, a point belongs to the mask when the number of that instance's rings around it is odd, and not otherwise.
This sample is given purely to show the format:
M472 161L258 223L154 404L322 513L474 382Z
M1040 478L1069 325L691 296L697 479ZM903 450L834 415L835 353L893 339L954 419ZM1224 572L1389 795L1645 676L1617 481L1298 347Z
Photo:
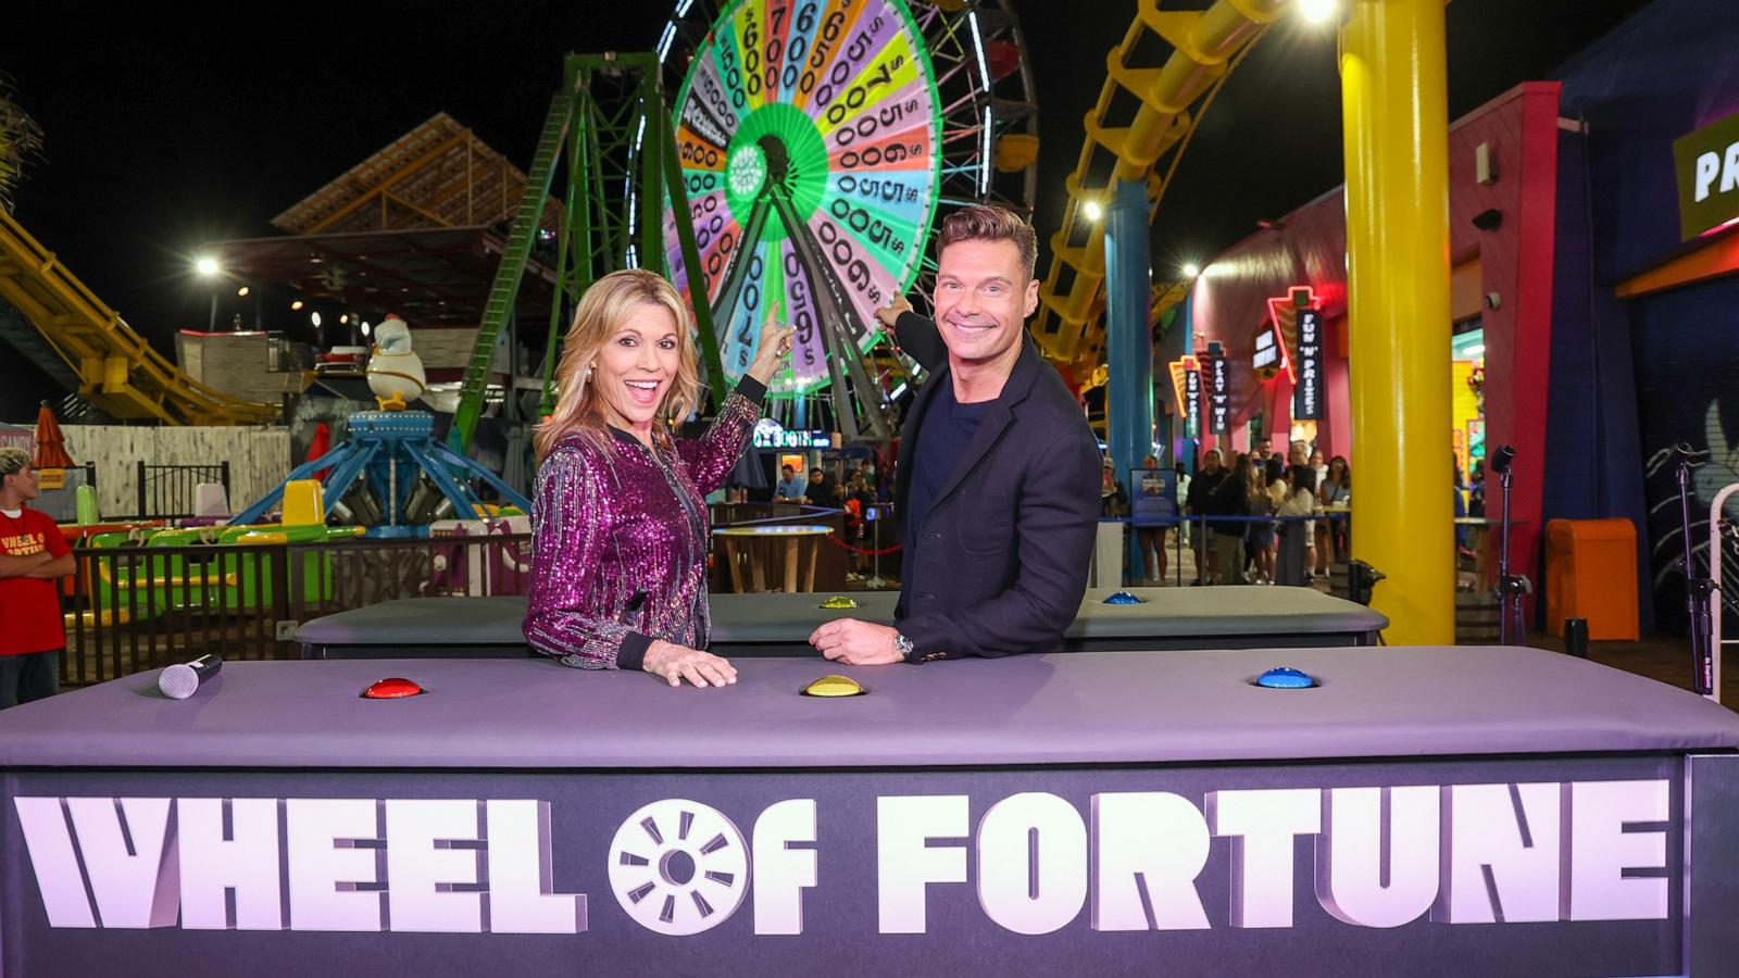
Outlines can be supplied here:
M5 211L0 336L122 421L266 425L282 414L277 404L238 400L181 372Z

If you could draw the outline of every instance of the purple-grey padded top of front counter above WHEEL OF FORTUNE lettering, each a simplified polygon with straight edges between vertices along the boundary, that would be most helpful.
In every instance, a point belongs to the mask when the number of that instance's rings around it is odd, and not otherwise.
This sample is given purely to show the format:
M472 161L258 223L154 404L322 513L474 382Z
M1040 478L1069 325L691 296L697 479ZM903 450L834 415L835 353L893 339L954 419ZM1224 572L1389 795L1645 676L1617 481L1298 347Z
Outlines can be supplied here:
M1290 665L1320 689L1250 686ZM868 696L798 696L840 672ZM725 689L555 663L228 663L0 712L0 766L783 767L1240 762L1739 748L1739 715L1556 653L1461 646L1050 654L925 667L739 663ZM428 693L360 700L383 675ZM148 743L150 750L141 750Z

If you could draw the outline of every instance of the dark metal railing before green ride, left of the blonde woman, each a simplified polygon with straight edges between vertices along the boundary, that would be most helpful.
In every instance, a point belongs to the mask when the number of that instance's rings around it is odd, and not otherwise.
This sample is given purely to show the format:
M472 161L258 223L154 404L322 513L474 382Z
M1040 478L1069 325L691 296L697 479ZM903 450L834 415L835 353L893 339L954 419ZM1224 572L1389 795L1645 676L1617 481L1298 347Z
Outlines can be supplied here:
M525 593L530 534L75 552L61 682L85 686L203 653L297 658L311 618L407 597Z

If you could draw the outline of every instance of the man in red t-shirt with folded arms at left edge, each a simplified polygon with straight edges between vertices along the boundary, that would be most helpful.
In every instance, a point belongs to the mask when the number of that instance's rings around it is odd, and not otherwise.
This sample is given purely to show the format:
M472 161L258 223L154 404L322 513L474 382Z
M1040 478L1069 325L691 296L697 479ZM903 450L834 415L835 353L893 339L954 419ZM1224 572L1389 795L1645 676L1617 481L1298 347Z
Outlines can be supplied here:
M24 506L37 468L24 449L0 449L0 710L61 691L61 595L73 552L54 520Z

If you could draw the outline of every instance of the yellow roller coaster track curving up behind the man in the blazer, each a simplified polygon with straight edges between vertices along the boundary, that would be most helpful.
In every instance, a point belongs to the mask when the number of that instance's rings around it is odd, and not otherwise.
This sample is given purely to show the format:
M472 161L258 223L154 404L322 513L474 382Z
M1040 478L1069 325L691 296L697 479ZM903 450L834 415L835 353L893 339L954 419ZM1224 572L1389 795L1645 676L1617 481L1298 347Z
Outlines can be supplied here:
M1104 235L1085 205L1108 205L1116 181L1134 181L1146 186L1153 219L1214 94L1289 0L1217 0L1205 10L1162 10L1160 3L1139 0L1123 40L1106 54L1104 89L1085 117L1080 162L1064 181L1063 230L1050 238L1052 258L1040 280L1033 338L1080 379L1104 355ZM1151 50L1169 56L1156 61ZM1129 117L1127 124L1113 124L1115 111ZM1155 285L1155 311L1181 296L1174 284Z

